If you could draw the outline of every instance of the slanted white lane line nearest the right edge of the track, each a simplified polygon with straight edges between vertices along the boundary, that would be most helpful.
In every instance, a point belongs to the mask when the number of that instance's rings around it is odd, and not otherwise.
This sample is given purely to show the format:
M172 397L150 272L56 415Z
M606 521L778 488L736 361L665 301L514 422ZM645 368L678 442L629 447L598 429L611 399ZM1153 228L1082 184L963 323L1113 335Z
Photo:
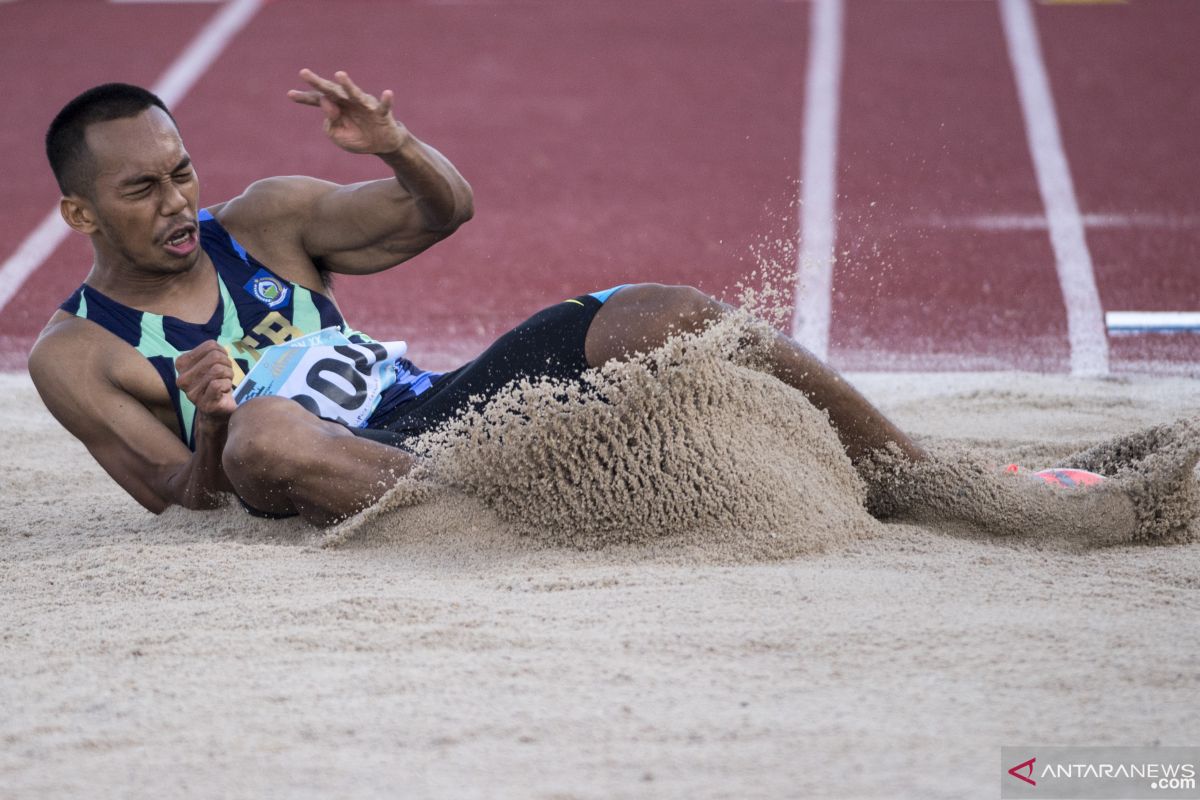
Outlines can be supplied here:
M1050 79L1042 61L1033 8L1028 0L1000 0L1000 17L1025 114L1025 133L1033 156L1038 190L1050 224L1058 285L1067 306L1070 372L1075 375L1103 375L1109 371L1104 312L1067 154L1058 133Z

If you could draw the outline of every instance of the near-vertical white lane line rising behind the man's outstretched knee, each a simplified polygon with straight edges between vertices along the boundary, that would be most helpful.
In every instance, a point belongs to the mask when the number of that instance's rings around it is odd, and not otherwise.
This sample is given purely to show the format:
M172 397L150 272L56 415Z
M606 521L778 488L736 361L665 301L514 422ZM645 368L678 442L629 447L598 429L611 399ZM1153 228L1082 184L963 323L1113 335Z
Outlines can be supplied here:
M841 90L842 0L814 0L804 86L800 156L800 246L792 337L818 359L829 355L838 190L838 98Z

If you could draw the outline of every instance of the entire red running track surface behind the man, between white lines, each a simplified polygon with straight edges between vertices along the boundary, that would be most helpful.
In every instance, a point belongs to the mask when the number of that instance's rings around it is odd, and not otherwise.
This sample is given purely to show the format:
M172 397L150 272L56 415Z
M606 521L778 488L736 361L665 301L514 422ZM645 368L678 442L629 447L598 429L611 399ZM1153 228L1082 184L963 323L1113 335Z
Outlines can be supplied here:
M151 84L209 5L0 4L0 259L54 205L40 139L108 79ZM720 294L762 240L797 236L810 6L289 0L264 5L178 106L215 203L250 181L377 176L341 154L295 71L346 68L455 161L476 218L397 270L342 279L350 320L433 367L564 296L618 282ZM1195 309L1200 6L1037 6L1103 305ZM53 48L44 42L54 41ZM833 361L1067 368L1054 252L996 7L846 0ZM0 312L18 368L90 261L72 237ZM1200 335L1112 339L1115 371L1200 374ZM424 356L424 357L422 357Z

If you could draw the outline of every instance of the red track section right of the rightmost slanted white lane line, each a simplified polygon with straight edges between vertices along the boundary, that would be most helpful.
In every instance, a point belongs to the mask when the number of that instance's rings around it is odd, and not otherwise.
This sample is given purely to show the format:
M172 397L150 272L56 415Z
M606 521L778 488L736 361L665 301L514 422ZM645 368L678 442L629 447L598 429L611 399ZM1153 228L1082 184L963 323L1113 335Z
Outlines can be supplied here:
M1200 5L1039 7L1100 301L1200 311ZM1200 335L1116 337L1118 368L1196 374Z

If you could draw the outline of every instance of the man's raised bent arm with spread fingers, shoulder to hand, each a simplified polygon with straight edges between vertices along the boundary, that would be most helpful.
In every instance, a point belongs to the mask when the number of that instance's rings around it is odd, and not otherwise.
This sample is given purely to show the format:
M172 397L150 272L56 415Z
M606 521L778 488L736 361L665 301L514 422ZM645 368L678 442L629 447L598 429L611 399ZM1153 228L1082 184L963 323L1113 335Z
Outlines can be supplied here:
M474 213L470 185L454 164L420 142L391 115L394 95L379 98L359 89L344 72L326 80L310 70L300 77L311 90L288 96L320 108L325 133L337 146L379 157L395 180L338 186L313 179L293 185L301 201L300 243L331 272L378 272L445 239Z

